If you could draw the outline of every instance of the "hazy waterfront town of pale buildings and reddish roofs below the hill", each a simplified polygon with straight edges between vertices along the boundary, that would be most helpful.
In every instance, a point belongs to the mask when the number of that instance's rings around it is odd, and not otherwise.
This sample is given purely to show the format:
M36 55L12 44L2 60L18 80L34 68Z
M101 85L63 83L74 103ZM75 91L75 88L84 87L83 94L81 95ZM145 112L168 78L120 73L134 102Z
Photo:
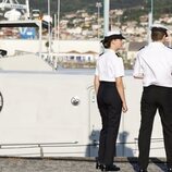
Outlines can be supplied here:
M100 2L96 3L97 12L89 14L85 10L77 10L73 13L67 13L60 17L59 27L52 22L51 29L51 52L57 51L58 45L65 40L64 48L61 47L59 52L62 54L60 59L63 59L64 67L95 67L96 58L101 53L100 40L103 38L103 8ZM125 41L123 50L120 51L120 56L124 60L125 69L131 70L135 61L136 52L144 46L147 45L149 39L149 28L148 28L148 14L138 16L138 20L122 22L122 16L124 10L110 10L109 28L110 30L121 29L125 35ZM14 15L13 15L14 16ZM47 14L44 15L46 19ZM39 15L35 20L42 20ZM56 21L56 17L51 17L51 21ZM172 30L172 14L162 14L159 19L153 20L153 23L164 24L170 30ZM58 30L59 28L59 30ZM1 39L38 39L38 32L33 28L4 28L0 29ZM27 36L26 36L27 35ZM169 33L171 35L171 33ZM44 39L44 52L49 49L49 32L47 29L42 30ZM58 39L58 40L57 40ZM69 45L73 45L77 41L89 47L89 42L94 41L97 47L93 49L87 49L81 51L81 47L69 49ZM167 45L171 46L171 36L169 37ZM67 44L69 42L69 44ZM73 47L73 46L70 46ZM62 49L62 50L61 50ZM64 56L65 53L65 56ZM56 58L52 58L56 59Z

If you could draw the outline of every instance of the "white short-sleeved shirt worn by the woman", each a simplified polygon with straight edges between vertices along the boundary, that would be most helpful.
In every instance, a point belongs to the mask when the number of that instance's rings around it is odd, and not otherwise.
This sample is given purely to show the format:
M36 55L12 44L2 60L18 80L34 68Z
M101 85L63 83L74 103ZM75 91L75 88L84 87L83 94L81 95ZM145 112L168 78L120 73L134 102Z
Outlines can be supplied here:
M116 77L124 76L124 65L122 58L108 49L97 59L96 73L99 81L115 82Z

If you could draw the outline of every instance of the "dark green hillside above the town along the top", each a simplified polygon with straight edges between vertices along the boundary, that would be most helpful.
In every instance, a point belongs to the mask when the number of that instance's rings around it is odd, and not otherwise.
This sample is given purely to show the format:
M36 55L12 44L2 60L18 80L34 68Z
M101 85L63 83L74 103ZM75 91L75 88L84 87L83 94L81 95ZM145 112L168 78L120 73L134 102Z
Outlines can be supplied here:
M61 0L61 16L75 12L77 10L86 10L88 13L97 12L96 2L103 0ZM147 14L150 11L150 0L110 0L110 9L125 9L124 20L137 20L139 15ZM47 1L30 0L30 9L39 9L47 13ZM51 14L57 13L58 0L50 0ZM153 0L153 15L159 17L160 14L172 13L171 0ZM101 9L102 15L102 9Z

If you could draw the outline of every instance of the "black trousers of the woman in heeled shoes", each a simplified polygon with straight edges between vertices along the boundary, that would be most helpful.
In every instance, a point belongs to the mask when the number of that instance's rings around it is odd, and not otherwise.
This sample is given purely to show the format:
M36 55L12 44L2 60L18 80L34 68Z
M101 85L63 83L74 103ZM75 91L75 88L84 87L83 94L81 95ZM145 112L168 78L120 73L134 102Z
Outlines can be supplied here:
M98 160L103 164L112 164L122 111L122 101L115 83L100 82L97 102L102 122Z

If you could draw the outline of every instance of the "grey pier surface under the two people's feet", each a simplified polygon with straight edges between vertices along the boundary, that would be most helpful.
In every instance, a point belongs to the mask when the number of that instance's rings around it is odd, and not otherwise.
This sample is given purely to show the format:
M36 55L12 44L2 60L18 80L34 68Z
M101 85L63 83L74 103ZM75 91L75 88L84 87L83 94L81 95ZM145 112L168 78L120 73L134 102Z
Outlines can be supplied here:
M121 172L137 171L136 158L115 158ZM95 158L14 158L0 157L0 172L99 172ZM165 172L165 160L151 158L148 172Z

